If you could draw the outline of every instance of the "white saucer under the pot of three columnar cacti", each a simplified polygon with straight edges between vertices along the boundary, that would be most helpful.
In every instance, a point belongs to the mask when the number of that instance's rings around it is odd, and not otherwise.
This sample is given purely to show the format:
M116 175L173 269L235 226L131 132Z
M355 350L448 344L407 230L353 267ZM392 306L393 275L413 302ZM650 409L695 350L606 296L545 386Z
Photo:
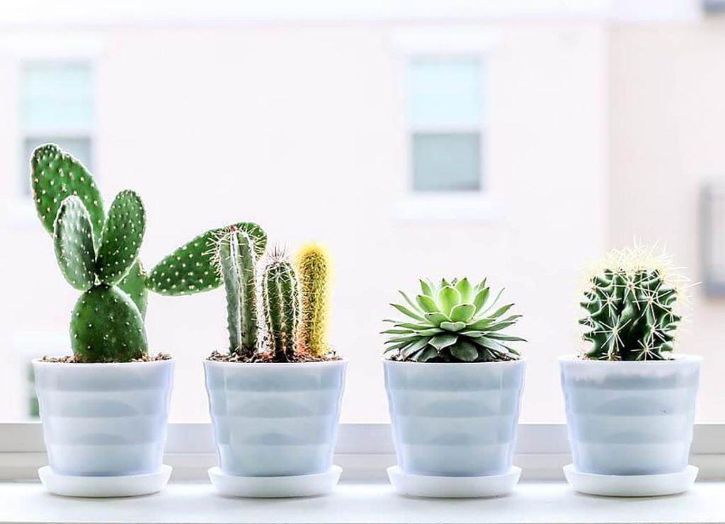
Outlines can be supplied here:
M292 496L326 495L339 481L342 468L332 466L325 473L286 477L238 477L220 468L209 470L209 478L220 495L278 499Z

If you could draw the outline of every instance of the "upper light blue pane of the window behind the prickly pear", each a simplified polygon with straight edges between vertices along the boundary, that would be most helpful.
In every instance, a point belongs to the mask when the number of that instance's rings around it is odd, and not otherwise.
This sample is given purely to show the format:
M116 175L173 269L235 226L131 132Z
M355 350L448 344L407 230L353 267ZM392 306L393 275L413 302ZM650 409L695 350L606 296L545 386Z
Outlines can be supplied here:
M94 119L92 80L89 64L25 64L20 86L23 128L88 130Z

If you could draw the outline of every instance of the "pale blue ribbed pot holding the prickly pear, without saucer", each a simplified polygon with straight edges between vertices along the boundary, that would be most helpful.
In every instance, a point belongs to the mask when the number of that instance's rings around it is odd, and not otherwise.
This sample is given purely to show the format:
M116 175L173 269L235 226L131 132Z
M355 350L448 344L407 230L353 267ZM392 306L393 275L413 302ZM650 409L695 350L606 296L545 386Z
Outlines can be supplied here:
M43 438L54 473L125 476L162 465L173 360L33 360Z

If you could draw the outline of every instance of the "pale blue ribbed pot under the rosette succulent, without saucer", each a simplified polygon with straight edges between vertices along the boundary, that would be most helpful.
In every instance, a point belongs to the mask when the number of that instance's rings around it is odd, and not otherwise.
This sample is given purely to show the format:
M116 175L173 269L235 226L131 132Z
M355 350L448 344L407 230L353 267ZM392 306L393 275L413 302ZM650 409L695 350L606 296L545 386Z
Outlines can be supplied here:
M523 360L383 364L399 468L462 477L510 470Z

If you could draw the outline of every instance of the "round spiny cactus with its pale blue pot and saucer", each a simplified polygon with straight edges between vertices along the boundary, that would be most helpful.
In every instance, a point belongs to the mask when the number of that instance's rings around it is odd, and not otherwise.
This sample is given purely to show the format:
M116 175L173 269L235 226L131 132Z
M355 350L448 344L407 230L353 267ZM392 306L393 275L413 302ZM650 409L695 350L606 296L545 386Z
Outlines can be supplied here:
M559 359L576 489L653 495L695 481L687 460L702 359L672 354L682 282L642 247L610 253L589 278L586 347Z

